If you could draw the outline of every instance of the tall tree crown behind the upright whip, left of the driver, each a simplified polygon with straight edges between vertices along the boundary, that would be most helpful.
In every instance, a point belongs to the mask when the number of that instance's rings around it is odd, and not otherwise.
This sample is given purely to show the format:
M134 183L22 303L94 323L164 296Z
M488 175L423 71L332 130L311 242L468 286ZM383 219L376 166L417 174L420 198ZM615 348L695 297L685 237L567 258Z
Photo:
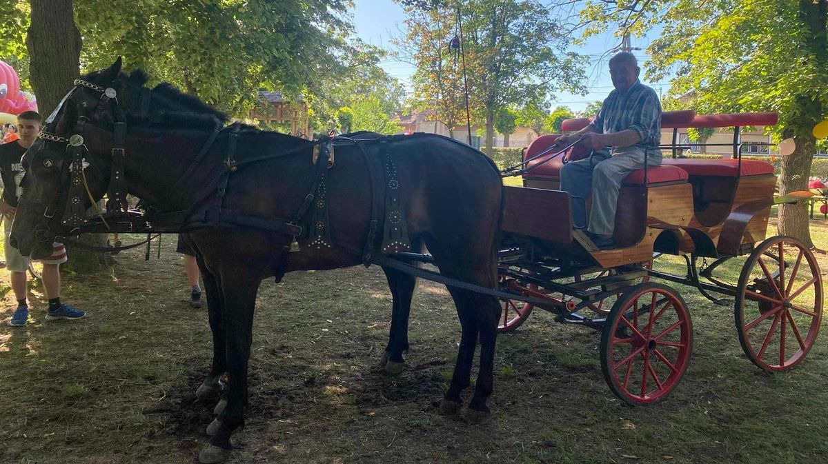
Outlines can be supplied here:
M463 22L469 101L477 122L493 128L500 108L523 108L555 88L580 91L582 65L566 53L570 36L535 0L461 0L429 12L407 8L407 43L417 65L417 97L426 103L450 98L461 88L458 64L447 41ZM456 77L455 77L456 76ZM439 84L439 82L444 84ZM438 108L456 108L438 105ZM487 133L489 146L492 132Z

